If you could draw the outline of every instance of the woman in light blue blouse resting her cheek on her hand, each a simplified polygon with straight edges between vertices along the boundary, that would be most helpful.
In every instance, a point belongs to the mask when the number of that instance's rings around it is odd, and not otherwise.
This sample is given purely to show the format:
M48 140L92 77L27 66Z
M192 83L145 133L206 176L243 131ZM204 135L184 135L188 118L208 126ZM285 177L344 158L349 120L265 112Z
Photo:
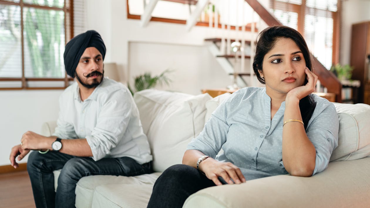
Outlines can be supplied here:
M285 26L263 30L253 69L266 88L240 89L218 106L182 165L158 178L148 207L182 207L189 195L222 182L309 177L327 167L339 121L332 103L311 94L317 76L302 35Z

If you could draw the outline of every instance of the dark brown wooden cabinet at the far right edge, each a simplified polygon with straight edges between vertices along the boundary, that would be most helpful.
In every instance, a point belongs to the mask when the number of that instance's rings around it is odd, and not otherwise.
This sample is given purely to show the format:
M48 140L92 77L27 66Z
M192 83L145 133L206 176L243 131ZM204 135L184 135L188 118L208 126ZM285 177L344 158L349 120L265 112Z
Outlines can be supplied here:
M370 21L352 25L351 62L352 79L361 82L359 102L370 105Z

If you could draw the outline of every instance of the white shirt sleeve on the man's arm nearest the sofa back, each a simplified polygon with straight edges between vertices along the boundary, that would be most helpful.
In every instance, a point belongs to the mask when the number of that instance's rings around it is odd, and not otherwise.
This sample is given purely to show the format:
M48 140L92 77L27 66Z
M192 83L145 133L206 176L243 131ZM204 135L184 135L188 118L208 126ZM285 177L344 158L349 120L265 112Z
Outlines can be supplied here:
M110 154L123 138L131 119L133 100L128 92L119 90L110 95L101 106L97 124L90 136L86 136L92 151L92 158L97 161Z

